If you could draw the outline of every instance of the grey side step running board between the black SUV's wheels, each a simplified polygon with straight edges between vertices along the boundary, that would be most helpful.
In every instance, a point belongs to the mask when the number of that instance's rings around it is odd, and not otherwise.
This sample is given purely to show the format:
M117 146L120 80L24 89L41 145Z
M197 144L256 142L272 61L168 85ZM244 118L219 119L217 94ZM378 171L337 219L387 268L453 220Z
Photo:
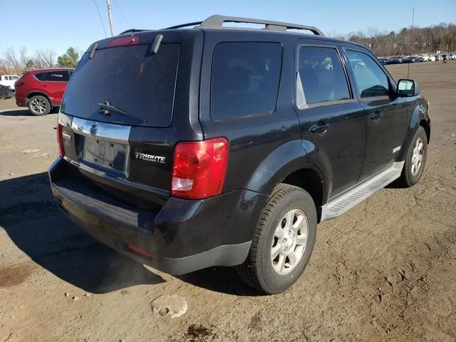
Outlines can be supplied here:
M404 162L394 162L391 167L383 170L378 175L366 180L366 182L357 185L346 194L333 199L331 202L321 207L321 221L325 219L333 219L351 209L359 202L371 196L374 192L382 189L394 180L400 177Z

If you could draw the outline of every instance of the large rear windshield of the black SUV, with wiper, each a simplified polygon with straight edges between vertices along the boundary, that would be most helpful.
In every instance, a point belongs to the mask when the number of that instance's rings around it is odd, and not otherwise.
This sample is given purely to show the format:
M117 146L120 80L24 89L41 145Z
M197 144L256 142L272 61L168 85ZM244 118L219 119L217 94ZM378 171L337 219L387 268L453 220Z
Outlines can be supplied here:
M92 59L86 53L71 76L61 110L91 120L167 127L172 123L179 57L178 43L162 43L155 54L150 45L104 48ZM106 101L131 116L114 111L101 115L98 103Z

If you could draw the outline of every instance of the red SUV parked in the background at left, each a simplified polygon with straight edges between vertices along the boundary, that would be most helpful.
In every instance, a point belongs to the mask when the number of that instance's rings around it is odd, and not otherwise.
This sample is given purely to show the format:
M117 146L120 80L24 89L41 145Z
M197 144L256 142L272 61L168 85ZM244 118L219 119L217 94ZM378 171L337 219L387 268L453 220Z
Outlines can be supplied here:
M28 107L33 115L46 115L60 106L73 68L27 71L14 84L16 104Z

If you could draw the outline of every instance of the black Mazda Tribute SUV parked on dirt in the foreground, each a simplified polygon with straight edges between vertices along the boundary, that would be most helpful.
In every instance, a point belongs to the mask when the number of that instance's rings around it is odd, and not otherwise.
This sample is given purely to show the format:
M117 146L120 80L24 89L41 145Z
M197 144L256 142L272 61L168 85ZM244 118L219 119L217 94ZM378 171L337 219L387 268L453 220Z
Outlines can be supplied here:
M303 273L318 222L420 180L428 109L418 83L312 26L211 16L130 30L73 73L51 187L133 259L170 274L237 266L275 294Z

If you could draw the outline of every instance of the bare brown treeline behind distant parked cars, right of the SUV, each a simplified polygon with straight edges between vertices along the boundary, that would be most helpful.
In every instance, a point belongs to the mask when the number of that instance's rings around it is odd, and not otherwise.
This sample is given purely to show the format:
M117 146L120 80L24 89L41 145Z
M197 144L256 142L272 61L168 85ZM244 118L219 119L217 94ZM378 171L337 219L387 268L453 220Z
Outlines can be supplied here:
M380 32L369 28L366 33L331 36L366 46L377 56L400 56L420 53L452 53L456 51L456 25L439 24L430 27L403 28L399 32Z

